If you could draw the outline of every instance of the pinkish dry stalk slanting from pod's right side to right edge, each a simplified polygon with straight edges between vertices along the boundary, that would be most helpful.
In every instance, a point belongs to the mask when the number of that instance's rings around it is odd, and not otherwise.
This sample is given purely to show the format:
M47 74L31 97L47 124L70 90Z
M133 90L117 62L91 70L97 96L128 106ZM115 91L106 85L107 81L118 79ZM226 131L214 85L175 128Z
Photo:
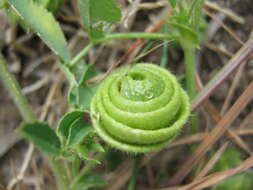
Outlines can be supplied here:
M246 61L253 52L253 38L250 38L242 48L234 55L201 92L192 101L192 110L194 111L204 100L206 100L215 91L216 88L244 61Z

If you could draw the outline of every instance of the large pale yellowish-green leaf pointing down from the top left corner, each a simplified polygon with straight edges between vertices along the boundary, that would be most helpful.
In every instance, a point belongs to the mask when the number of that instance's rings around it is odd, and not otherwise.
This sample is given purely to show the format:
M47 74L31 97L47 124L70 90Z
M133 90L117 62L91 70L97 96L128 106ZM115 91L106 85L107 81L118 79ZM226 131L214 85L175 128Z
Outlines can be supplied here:
M70 61L64 34L53 15L31 0L8 0L24 21L65 62Z

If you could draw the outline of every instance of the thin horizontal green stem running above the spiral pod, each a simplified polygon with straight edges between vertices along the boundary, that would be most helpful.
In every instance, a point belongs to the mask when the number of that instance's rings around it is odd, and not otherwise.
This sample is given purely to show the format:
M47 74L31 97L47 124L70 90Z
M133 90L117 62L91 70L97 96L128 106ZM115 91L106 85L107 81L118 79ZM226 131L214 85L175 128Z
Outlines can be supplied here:
M108 34L104 38L95 40L94 43L103 43L109 40L122 40L122 39L154 39L154 40L174 40L175 36L162 33L147 33L147 32L133 32L133 33L116 33Z

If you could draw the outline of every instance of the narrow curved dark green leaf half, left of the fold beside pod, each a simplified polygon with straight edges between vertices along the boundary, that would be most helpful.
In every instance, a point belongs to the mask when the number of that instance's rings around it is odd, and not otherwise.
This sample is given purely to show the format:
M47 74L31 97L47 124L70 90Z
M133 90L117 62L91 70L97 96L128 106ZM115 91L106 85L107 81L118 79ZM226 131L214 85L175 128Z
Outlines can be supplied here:
M57 127L57 135L64 141L67 140L69 137L69 131L70 131L70 127L71 125L78 119L81 117L81 115L83 115L84 112L83 111L79 111L79 110L75 110L72 112L69 112L67 114L65 114Z

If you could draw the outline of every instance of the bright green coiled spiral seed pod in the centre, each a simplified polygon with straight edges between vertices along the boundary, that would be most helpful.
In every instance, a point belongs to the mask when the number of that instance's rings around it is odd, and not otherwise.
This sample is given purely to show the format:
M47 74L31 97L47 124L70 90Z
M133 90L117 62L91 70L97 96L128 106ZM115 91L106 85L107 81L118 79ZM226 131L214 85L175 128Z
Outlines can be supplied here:
M180 132L189 112L188 96L176 78L145 63L113 72L91 103L98 135L111 146L134 153L166 146Z

